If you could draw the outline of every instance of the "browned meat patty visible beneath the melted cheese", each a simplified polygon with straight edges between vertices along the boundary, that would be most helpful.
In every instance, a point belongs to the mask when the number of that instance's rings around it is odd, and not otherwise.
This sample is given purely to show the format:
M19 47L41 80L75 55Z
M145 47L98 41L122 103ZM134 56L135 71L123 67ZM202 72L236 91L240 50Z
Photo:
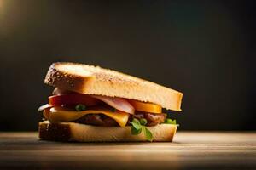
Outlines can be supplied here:
M129 121L131 121L133 118L137 118L137 119L145 118L148 121L146 126L152 127L157 124L165 122L166 114L137 112L135 115L131 115L129 117ZM101 126L101 127L118 127L119 126L119 124L115 122L112 118L105 116L103 114L85 115L80 117L75 122L94 125L94 126Z

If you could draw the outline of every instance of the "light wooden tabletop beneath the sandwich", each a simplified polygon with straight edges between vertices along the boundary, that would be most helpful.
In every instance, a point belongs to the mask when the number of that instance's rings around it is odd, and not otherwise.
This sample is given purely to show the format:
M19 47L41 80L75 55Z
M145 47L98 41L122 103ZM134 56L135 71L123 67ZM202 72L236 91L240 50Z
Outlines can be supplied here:
M173 143L55 143L0 133L0 169L256 169L256 133L177 132Z

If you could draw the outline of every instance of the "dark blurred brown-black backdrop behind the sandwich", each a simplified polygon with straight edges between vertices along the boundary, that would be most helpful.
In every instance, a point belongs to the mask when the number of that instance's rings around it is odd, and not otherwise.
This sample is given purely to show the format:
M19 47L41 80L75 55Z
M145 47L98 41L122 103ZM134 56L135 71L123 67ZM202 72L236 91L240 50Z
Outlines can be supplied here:
M0 0L0 131L37 130L49 65L102 65L183 92L183 130L255 130L253 1Z

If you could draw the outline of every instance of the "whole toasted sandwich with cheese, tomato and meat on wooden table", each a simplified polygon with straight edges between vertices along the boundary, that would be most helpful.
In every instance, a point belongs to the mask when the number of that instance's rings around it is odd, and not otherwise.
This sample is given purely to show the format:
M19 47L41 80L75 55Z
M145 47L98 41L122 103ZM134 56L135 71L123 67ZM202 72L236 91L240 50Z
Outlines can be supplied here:
M58 62L44 82L54 87L39 107L39 138L64 142L172 142L183 94L93 65Z

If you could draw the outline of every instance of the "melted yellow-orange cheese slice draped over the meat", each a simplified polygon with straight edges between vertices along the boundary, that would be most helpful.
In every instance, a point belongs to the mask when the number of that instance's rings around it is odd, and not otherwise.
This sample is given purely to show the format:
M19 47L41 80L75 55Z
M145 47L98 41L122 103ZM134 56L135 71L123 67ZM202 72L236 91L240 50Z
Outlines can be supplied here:
M112 112L106 108L97 108L96 110L86 111L73 111L63 107L50 108L49 116L46 118L49 119L49 122L72 122L87 114L103 114L105 116L111 117L113 120L119 123L120 127L125 127L129 119L129 113L125 113L123 111Z

